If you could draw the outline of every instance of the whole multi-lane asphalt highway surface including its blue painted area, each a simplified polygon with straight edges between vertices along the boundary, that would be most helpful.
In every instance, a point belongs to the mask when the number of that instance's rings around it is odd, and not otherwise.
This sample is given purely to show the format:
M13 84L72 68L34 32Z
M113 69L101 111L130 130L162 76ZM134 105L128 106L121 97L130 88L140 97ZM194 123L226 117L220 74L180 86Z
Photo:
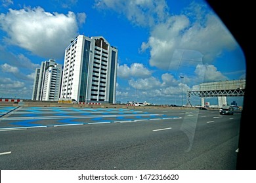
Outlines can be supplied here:
M0 107L1 170L232 170L241 114Z

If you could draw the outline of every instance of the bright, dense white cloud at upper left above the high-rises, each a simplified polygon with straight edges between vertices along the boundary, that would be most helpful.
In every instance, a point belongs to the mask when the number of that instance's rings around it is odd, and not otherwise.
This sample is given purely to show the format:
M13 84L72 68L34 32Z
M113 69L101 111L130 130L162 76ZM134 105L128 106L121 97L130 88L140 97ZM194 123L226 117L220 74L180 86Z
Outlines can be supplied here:
M79 23L85 14L78 14ZM70 40L77 36L77 17L74 12L58 14L43 8L9 9L0 15L0 27L7 32L5 41L29 50L44 58L62 58Z

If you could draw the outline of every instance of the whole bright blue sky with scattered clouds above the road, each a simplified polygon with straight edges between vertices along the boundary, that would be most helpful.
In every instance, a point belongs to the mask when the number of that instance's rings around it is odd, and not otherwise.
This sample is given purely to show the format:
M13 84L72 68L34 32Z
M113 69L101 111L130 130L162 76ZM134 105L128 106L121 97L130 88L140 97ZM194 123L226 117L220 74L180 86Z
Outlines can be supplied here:
M121 103L181 105L203 82L245 79L242 49L205 1L0 1L0 98L32 99L35 69L49 59L64 64L77 35L118 49ZM205 101L217 105L217 97Z

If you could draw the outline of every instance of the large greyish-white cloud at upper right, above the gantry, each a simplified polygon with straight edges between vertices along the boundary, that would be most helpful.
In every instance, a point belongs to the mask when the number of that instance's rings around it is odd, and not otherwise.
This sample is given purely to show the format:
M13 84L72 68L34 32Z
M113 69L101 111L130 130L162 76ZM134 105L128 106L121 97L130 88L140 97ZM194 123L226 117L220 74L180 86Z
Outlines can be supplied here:
M221 56L223 50L238 46L217 16L207 14L205 19L202 25L200 22L190 22L184 15L172 16L167 22L156 25L148 42L141 45L142 50L150 49L150 65L160 69L177 69L180 60L173 57L178 50L190 50L191 56L187 58L211 63ZM198 52L198 56L192 51Z

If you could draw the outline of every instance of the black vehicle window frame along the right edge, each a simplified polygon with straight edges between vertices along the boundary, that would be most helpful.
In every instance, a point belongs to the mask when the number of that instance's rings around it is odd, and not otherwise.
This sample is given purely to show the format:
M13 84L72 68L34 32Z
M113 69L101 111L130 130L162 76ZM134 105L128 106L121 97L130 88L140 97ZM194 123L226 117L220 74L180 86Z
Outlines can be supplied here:
M230 33L234 36L238 44L244 51L246 60L246 86L244 95L244 106L240 122L239 151L236 163L236 169L249 170L255 169L255 153L253 144L255 140L254 122L253 122L253 57L251 40L253 37L253 28L248 22L252 16L251 1L220 1L207 0L207 3L218 14L219 18L226 25Z

